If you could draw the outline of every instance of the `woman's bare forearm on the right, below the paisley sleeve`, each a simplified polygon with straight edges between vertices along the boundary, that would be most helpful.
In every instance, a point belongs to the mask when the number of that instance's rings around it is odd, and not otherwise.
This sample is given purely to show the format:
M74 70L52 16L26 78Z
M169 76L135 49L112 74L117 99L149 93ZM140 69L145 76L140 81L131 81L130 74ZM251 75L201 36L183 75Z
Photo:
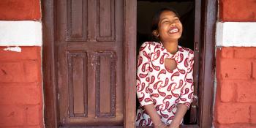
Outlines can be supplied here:
M176 114L173 118L173 121L170 123L169 128L178 128L186 112L187 105L178 104Z

